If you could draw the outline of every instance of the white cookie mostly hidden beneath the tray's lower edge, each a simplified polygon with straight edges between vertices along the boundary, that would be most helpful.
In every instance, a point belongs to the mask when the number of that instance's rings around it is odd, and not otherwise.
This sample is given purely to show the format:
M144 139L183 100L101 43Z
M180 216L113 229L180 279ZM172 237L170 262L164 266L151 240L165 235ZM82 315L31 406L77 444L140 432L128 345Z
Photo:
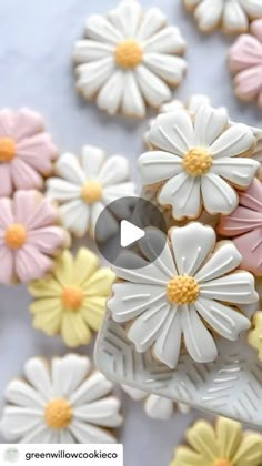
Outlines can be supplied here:
M164 398L163 396L147 393L138 388L122 385L123 391L135 402L144 402L144 411L149 417L153 419L170 419L178 407L183 414L190 412L190 407L182 403L174 403L171 399Z

